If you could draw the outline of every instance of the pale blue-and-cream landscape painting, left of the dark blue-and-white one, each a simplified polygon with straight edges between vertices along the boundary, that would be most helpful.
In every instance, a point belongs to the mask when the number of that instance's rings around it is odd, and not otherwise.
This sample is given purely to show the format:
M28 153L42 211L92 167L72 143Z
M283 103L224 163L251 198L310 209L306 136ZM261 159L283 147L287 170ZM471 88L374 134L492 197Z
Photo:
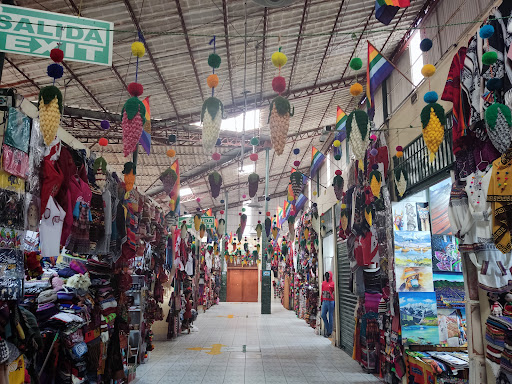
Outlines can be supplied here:
M395 232L395 265L402 267L432 266L430 232Z

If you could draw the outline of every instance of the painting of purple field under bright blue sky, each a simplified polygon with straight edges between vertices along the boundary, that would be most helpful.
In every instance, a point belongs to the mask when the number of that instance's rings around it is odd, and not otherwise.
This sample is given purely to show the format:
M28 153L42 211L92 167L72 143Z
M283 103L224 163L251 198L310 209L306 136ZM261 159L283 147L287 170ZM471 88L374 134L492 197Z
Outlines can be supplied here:
M434 291L438 308L465 308L462 273L434 273Z

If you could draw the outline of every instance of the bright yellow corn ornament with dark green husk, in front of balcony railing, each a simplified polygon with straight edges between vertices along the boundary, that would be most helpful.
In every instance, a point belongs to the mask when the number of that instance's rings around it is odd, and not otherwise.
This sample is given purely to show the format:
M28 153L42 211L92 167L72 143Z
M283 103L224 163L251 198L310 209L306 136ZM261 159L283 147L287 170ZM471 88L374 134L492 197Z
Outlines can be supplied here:
M444 109L437 103L427 104L421 111L423 140L430 152L430 162L436 158L436 152L443 142L446 116Z

